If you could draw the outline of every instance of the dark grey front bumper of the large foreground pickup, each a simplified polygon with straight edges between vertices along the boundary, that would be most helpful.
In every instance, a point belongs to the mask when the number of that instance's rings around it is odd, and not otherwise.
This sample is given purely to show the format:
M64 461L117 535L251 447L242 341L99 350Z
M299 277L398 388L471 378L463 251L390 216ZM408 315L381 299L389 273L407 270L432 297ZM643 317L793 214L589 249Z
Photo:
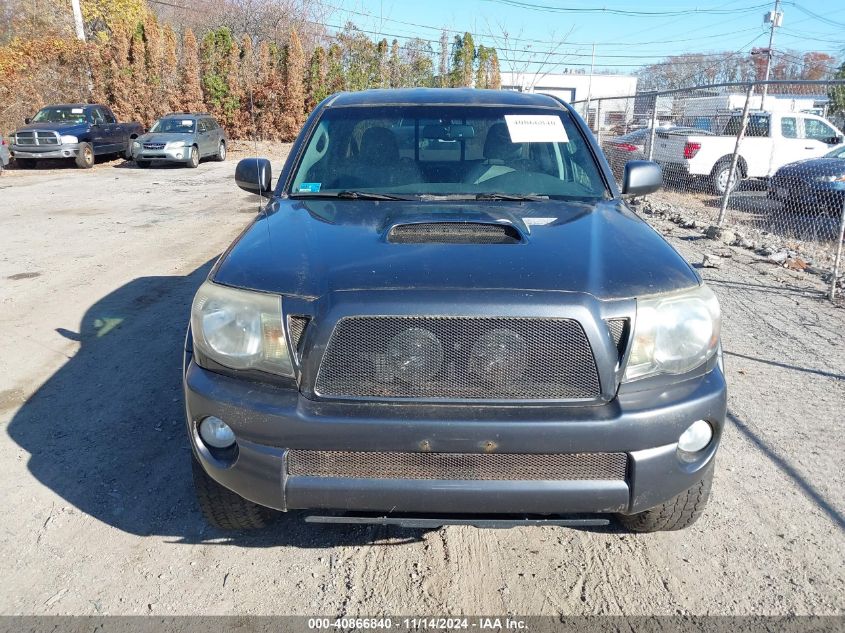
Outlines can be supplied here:
M695 485L713 460L727 392L718 367L600 406L476 406L317 402L294 389L223 376L186 356L188 434L196 458L223 486L278 510L415 513L635 513ZM226 421L237 456L220 460L197 432ZM714 439L692 462L677 440L695 420ZM625 480L420 480L289 476L290 449L360 452L597 453L628 456Z

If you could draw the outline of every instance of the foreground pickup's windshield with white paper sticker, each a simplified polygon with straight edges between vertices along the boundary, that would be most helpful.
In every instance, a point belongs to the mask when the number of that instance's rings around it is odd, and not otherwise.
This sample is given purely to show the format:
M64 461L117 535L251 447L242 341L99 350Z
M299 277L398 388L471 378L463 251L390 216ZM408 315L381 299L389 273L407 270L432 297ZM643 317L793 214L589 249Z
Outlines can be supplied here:
M327 109L289 193L596 199L599 168L568 112L543 108Z

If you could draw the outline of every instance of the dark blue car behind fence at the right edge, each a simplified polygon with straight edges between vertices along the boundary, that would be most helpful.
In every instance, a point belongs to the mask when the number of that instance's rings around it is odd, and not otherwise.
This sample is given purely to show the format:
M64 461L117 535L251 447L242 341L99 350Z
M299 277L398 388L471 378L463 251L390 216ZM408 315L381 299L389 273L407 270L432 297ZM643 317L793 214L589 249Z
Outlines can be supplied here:
M768 194L788 209L839 215L845 204L845 147L784 165L769 181Z

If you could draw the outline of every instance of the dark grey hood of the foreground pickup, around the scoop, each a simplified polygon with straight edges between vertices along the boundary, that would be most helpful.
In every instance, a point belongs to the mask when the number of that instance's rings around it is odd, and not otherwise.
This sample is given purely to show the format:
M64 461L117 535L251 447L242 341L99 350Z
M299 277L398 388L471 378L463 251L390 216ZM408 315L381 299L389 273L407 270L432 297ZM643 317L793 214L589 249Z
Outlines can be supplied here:
M409 223L505 224L508 244L394 243ZM370 289L511 289L600 299L695 286L698 276L619 201L273 200L212 271L221 284L296 295Z

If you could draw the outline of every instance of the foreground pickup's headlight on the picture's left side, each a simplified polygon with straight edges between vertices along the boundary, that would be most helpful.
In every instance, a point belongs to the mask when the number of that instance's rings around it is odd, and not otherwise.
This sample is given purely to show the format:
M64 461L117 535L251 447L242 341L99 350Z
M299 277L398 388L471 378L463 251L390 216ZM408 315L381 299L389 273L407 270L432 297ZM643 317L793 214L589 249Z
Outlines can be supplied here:
M194 347L232 369L293 376L278 295L206 281L191 306Z

